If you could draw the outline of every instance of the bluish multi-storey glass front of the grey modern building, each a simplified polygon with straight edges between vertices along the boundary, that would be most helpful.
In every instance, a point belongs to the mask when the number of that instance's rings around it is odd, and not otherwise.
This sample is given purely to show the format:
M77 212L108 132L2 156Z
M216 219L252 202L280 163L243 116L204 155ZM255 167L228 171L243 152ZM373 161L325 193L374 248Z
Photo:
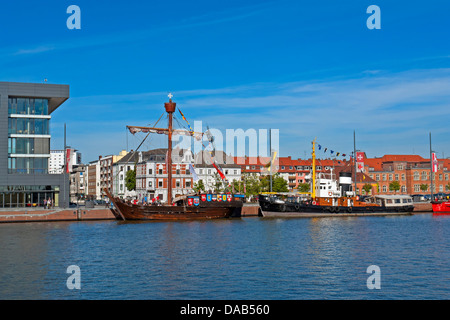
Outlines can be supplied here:
M49 122L47 99L8 98L8 173L48 173Z

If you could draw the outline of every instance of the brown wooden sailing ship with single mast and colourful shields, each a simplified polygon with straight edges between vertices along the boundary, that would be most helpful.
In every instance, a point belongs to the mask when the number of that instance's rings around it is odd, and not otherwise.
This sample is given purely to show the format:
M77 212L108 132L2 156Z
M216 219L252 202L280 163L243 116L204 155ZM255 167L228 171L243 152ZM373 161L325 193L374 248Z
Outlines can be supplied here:
M104 189L106 196L114 207L111 209L118 220L199 220L199 219L221 219L240 217L244 197L239 194L196 194L184 195L173 199L172 197L172 135L182 134L195 136L192 130L174 130L173 113L176 103L172 102L169 94L169 102L164 104L165 112L168 114L168 128L151 128L127 126L131 133L158 133L166 134L168 137L167 150L167 203L163 205L133 204L111 195L108 189ZM180 112L181 113L181 112ZM183 116L184 117L184 116ZM202 134L200 134L200 137ZM217 168L217 167L216 167ZM220 198L219 198L220 197ZM220 200L220 201L218 201Z

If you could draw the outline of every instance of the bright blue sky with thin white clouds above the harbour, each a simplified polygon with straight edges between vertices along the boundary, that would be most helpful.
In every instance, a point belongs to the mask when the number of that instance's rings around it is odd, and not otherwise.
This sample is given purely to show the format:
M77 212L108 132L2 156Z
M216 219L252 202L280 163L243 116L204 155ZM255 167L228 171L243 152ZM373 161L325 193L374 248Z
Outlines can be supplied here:
M69 30L69 5L81 30ZM381 29L369 30L370 5ZM69 84L52 148L85 162L135 148L167 93L188 120L279 129L280 155L311 141L368 156L450 156L448 1L10 1L0 11L0 81ZM127 143L128 141L128 143ZM147 147L164 143L154 138Z

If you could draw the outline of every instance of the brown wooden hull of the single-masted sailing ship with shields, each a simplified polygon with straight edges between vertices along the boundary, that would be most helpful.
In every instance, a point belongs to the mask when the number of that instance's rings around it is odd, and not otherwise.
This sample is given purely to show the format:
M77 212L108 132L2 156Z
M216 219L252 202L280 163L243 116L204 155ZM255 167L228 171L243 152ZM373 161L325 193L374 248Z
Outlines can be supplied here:
M114 200L112 210L118 220L205 220L241 216L241 203L213 203L204 206L135 205Z

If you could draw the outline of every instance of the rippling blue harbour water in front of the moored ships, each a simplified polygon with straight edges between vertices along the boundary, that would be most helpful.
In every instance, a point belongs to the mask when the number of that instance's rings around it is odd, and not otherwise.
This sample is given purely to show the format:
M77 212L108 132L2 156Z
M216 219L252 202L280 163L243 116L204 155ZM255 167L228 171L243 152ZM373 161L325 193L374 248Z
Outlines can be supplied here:
M431 214L1 224L0 299L449 299L449 235Z

